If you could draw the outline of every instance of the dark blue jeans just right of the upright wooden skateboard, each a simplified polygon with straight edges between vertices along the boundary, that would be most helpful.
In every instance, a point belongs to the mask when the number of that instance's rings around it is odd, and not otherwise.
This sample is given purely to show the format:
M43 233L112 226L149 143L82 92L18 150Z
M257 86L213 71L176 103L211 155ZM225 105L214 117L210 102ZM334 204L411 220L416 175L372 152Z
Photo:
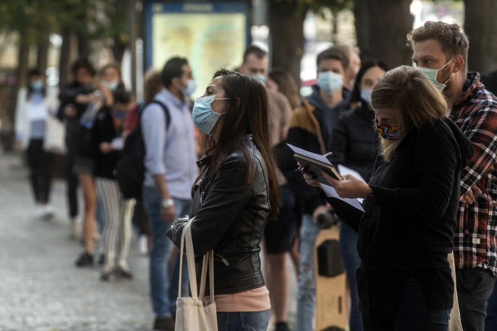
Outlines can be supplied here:
M355 273L361 259L357 252L359 234L345 223L340 224L340 252L347 272L347 281L350 287L350 331L362 331L361 312L359 311L359 295Z

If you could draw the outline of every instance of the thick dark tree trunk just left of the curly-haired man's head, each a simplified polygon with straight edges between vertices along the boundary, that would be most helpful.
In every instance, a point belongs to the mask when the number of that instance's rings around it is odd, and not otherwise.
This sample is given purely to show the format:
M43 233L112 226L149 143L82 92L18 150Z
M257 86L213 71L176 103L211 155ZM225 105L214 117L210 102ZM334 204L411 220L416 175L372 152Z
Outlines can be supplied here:
M362 61L381 59L390 68L412 63L412 50L406 47L406 35L413 29L411 2L412 0L354 1L355 30Z

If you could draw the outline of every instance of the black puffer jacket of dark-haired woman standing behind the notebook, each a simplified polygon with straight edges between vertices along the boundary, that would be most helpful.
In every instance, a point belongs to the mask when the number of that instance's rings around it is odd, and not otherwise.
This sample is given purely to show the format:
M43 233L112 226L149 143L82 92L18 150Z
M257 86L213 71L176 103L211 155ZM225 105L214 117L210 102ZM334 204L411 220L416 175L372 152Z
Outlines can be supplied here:
M336 120L331 134L331 163L349 167L368 181L379 150L378 139L374 112L363 102Z

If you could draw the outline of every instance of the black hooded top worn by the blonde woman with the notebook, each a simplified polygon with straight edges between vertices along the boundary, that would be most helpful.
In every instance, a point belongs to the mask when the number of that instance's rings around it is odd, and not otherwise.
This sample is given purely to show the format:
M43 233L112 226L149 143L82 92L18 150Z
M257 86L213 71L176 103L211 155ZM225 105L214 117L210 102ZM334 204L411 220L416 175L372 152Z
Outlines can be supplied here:
M447 254L453 248L460 170L472 155L466 136L451 121L437 120L409 132L390 162L378 156L369 181L374 206L365 201L362 213L327 199L359 233L357 286L363 312L396 307L410 278L421 283L428 307L452 307Z

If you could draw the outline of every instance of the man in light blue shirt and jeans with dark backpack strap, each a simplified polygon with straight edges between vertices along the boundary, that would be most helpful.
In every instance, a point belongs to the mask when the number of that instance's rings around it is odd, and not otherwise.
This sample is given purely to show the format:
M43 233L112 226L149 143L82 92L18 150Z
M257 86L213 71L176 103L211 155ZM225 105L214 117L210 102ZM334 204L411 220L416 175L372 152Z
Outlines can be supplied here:
M195 85L188 61L178 57L168 60L162 71L162 82L165 87L154 101L165 107L151 102L141 117L145 145L142 197L153 243L150 293L156 314L154 330L174 330L175 301L168 293L169 286L175 287L177 283L169 282L174 276L169 275L173 246L166 232L176 218L190 212L190 190L198 175L194 125L188 102ZM186 289L184 292L187 293Z

